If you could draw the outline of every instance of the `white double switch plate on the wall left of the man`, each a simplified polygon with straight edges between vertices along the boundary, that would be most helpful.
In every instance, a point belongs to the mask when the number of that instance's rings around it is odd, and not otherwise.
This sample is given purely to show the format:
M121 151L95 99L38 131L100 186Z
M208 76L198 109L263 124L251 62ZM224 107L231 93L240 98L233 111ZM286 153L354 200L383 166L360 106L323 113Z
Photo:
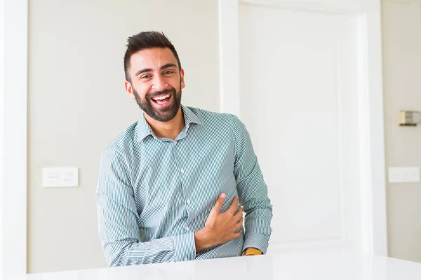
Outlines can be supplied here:
M42 169L42 186L44 188L79 186L79 169L77 167L45 167Z

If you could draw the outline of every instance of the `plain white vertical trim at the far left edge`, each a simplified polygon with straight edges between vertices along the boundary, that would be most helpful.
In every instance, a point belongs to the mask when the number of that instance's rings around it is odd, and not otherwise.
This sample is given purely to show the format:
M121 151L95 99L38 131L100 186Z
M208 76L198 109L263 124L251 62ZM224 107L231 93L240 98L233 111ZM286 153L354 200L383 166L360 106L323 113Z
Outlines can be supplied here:
M0 0L0 278L27 272L27 0Z

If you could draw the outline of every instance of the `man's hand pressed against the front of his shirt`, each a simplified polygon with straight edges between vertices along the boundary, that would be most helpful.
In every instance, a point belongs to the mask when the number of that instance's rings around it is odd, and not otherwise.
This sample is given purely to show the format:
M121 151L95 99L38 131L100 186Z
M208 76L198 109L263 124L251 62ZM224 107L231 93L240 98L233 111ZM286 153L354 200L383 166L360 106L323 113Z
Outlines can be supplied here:
M199 253L205 248L224 244L229 240L241 236L241 230L239 229L243 225L243 208L239 206L238 211L235 213L239 203L239 197L234 197L229 209L220 213L225 197L225 193L221 193L218 200L216 200L215 206L210 211L205 228L194 232L196 253Z

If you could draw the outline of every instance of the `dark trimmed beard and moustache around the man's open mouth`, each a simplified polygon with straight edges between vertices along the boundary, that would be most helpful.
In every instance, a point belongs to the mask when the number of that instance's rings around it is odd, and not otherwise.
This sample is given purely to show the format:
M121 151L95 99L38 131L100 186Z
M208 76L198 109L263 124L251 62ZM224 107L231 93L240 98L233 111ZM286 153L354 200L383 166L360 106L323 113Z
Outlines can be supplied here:
M158 120L159 122L169 122L178 113L178 109L180 109L181 105L181 85L180 91L177 92L174 87L169 90L162 90L160 92L147 92L145 99L141 99L138 92L133 88L133 93L135 94L136 103L138 103L140 109L147 113L147 115L154 120ZM166 106L162 109L156 109L152 104L152 97L156 97L161 94L170 94L170 98L172 98L171 104Z

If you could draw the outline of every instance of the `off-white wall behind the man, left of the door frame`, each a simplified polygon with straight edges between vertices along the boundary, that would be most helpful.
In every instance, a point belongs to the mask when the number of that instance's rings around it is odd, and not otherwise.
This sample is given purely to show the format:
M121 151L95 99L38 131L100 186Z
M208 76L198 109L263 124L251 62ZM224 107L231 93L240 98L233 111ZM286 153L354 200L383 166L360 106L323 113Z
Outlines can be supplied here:
M126 38L166 32L185 69L182 103L219 110L216 0L29 0L28 272L106 265L95 188L102 148L140 118L124 92ZM79 167L79 188L41 168Z

